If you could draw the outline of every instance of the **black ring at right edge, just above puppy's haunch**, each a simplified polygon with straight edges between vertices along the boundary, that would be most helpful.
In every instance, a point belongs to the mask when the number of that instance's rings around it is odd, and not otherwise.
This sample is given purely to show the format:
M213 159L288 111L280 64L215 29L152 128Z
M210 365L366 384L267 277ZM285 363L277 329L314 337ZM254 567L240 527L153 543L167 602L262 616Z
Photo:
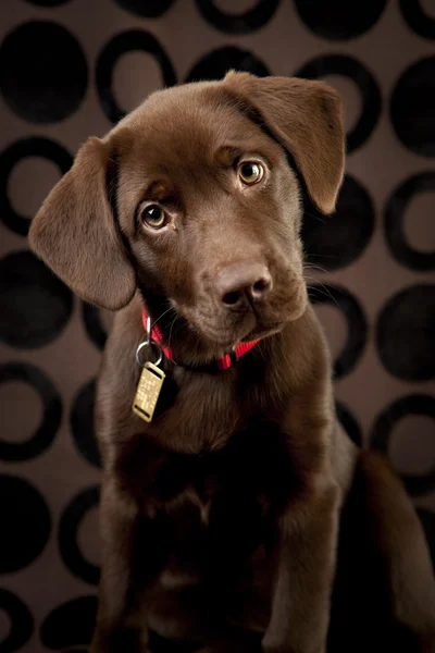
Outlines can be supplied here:
M435 398L426 394L407 395L387 406L376 418L370 442L373 448L388 454L391 431L403 417L422 415L435 420ZM413 496L435 490L435 467L425 475L401 475L403 483Z

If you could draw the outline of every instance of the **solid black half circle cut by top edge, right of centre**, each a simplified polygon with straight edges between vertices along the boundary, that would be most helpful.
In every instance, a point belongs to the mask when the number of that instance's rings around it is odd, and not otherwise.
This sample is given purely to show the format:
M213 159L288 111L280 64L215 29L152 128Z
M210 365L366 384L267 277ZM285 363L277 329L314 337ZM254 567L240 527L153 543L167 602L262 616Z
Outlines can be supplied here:
M307 27L328 40L348 40L369 32L377 23L385 5L386 0L296 0L296 9Z

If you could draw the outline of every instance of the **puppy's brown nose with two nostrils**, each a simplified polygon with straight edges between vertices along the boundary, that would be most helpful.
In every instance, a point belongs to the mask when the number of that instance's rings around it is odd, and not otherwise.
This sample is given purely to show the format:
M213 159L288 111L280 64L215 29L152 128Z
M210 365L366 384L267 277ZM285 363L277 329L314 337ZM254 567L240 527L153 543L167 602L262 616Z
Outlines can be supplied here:
M272 276L262 263L241 261L221 270L215 280L217 296L225 306L259 301L272 288Z

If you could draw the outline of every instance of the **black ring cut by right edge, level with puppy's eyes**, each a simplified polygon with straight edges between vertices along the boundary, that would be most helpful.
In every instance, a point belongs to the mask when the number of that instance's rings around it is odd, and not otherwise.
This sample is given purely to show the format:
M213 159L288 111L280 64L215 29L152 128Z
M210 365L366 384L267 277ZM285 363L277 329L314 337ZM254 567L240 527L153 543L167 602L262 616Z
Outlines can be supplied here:
M385 207L384 232L393 256L407 268L435 270L435 251L418 251L405 237L403 217L409 202L420 193L435 193L435 172L423 172L398 186Z

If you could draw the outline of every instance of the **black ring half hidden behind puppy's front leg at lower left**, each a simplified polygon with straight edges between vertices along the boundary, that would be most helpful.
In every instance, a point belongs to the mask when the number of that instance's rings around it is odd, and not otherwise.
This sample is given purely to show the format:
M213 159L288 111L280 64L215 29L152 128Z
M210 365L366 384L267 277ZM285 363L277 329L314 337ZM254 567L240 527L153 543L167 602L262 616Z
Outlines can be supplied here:
M79 550L78 529L86 513L96 508L100 501L99 488L87 488L77 494L64 509L59 523L59 550L63 562L74 576L89 584L97 584L99 568L89 563Z

